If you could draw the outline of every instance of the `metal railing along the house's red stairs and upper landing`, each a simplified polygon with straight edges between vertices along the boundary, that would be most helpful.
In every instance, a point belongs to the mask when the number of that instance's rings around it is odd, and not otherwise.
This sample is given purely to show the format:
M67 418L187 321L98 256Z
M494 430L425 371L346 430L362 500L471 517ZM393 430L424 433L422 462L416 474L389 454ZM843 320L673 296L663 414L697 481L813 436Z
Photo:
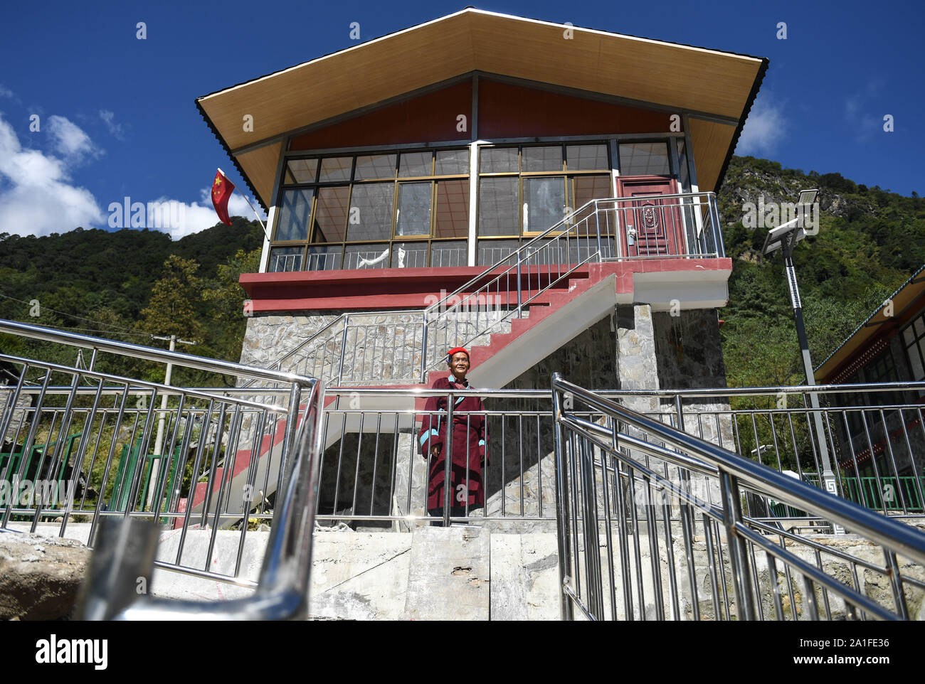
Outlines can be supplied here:
M672 240L653 238L647 220L662 232L672 226ZM722 257L719 226L712 192L592 200L424 310L342 313L270 367L330 378L332 385L423 383L447 349L523 316L586 263ZM633 253L624 250L624 235Z

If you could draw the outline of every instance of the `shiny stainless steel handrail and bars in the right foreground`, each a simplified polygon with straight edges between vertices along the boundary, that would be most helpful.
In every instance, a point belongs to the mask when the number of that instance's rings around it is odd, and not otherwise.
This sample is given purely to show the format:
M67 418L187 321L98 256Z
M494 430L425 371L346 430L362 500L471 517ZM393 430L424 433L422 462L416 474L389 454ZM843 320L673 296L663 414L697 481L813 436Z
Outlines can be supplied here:
M807 582L806 591L809 594L815 596L813 589L813 582L816 582L820 585L823 590L823 598L825 600L826 610L831 617L832 613L828 603L827 595L824 593L826 591L831 591L836 595L840 595L845 598L846 602L849 602L851 605L857 606L861 611L869 612L870 615L874 617L908 617L907 607L905 599L903 598L903 582L904 580L907 584L911 584L916 587L925 587L925 583L915 580L909 577L902 577L899 573L899 566L897 564L896 555L901 554L912 561L925 565L925 534L922 534L919 531L910 528L907 525L888 519L885 516L873 513L870 510L859 507L856 504L853 504L845 499L839 498L838 496L824 492L817 487L809 485L805 482L797 481L793 478L789 478L786 475L783 475L776 470L771 470L765 466L762 466L758 463L750 461L746 458L741 458L733 452L727 451L720 446L716 446L706 442L704 440L698 439L697 437L680 432L670 426L666 426L659 421L654 421L649 419L646 416L643 416L631 409L626 409L615 402L607 399L605 397L600 397L598 394L587 391L586 389L573 385L561 379L559 373L554 373L552 378L552 394L554 402L554 411L556 416L556 473L557 473L557 522L559 528L559 546L560 546L560 577L562 581L562 596L561 596L561 607L562 615L565 618L572 617L572 606L577 605L581 610L586 614L586 617L592 619L598 619L599 617L604 617L604 600L603 593L601 590L602 578L600 576L600 563L601 558L598 552L598 544L585 544L585 563L586 563L586 590L588 594L587 602L583 602L579 596L581 592L580 588L575 588L573 581L575 578L570 577L571 567L572 567L572 546L570 544L568 529L569 525L575 525L577 519L583 520L583 529L586 536L586 539L589 535L597 537L598 535L598 519L597 519L597 508L598 502L595 498L595 469L599 469L605 466L605 457L615 458L615 463L620 463L625 461L627 464L630 464L631 469L637 470L641 473L642 482L646 483L646 486L652 486L656 482L658 486L666 486L672 490L672 494L680 494L685 502L692 502L692 498L689 495L681 490L676 490L673 487L672 482L668 482L660 478L659 474L651 470L647 465L633 460L629 457L629 452L625 450L628 448L641 451L644 454L656 457L664 461L665 463L672 463L679 468L686 470L697 470L705 471L702 468L691 468L691 457L685 457L685 454L691 454L694 458L702 460L703 466L709 470L709 472L715 469L715 474L719 478L721 494L722 494L722 507L717 507L715 505L710 505L709 514L716 520L722 521L722 524L725 528L725 533L727 537L727 543L729 545L728 559L734 574L733 587L735 590L735 605L737 606L737 615L740 619L753 619L756 616L762 615L762 608L759 605L758 611L756 611L756 605L754 602L754 596L752 595L753 589L758 590L759 580L757 577L750 576L751 569L755 564L754 559L754 550L757 546L759 549L763 549L768 555L769 563L771 564L771 571L773 571L773 558L776 558L779 561L782 561L785 567L794 568L796 572L802 574ZM602 426L593 425L589 421L579 420L569 414L569 409L565 409L563 406L563 397L570 397L572 402L580 401L582 404L590 407L595 411L599 411L603 416L609 417L613 421L610 430L604 429ZM626 434L622 429L618 429L618 423L624 423L631 428L639 431L643 438L635 437L631 434ZM575 448L577 444L578 453L573 454L573 457L569 459L570 465L566 465L566 444L564 434L568 432L573 435L581 435L579 438L579 443L571 441L569 445L571 448ZM584 442L580 440L585 440ZM619 449L618 450L618 443ZM659 446L658 443L664 443L666 446ZM593 454L588 450L589 446L597 448L600 450L600 459L593 457ZM678 451L673 450L672 448L677 449ZM625 453L623 453L625 452ZM575 461L578 461L576 464ZM575 474L576 471L578 474ZM680 471L679 471L680 472ZM624 473L625 476L626 473ZM633 482L633 478L638 477L630 473L630 482ZM573 502L574 507L581 509L582 514L578 514L577 510L571 509L570 501L571 497L574 496L575 490L573 489L575 485L575 478L577 478L578 486L581 488L582 496L581 498L576 499ZM619 480L619 478L618 478ZM783 543L783 540L780 544L774 545L769 544L765 541L762 534L759 534L756 530L768 532L771 531L774 534L779 533L777 530L768 527L764 523L759 523L755 519L749 519L742 514L740 509L739 496L742 493L740 487L744 487L747 490L753 490L764 495L773 495L778 500L782 500L787 504L791 504L797 507L803 507L811 511L813 514L820 515L832 522L840 523L844 525L847 530L858 532L865 536L868 540L874 542L875 544L880 544L883 548L883 553L885 556L885 568L878 568L879 571L883 572L888 578L888 581L891 582L894 592L894 598L896 601L897 609L895 613L891 613L882 606L874 603L869 597L857 592L857 590L852 590L850 587L844 583L834 580L833 578L827 576L822 571L822 566L819 561L819 549L816 549L817 561L819 563L819 568L808 564L805 560L801 559L799 556L796 556L792 551L788 550ZM607 504L607 495L608 495L608 485L605 483L603 495L605 499L605 509L609 505ZM619 486L618 491L616 492L618 498L618 510L623 507L623 503L620 502L620 493ZM633 505L635 506L635 505ZM666 526L666 536L668 536L668 513L667 508L665 508L665 519L664 525ZM608 526L607 531L607 544L605 548L611 559L611 573L613 572L612 568L612 558L613 558L613 546L611 541L611 528L610 528L610 513L608 513ZM658 527L653 528L655 524L655 519L652 516L652 512L648 512L648 529L649 533L652 533L652 530L656 530L658 533ZM577 516L577 518L576 518ZM626 538L625 530L623 530L623 519L620 517L621 514L617 514L617 522L621 526L620 529L620 542L621 542L621 558L623 560L623 572L627 574L629 572L629 566L627 565L627 549L625 547ZM690 514L687 513L687 518L682 519L682 529L685 532L685 550L687 551L688 558L688 570L691 574L691 586L696 585L694 581L694 556L691 550L691 523L690 523ZM589 517L589 518L588 518ZM635 507L633 508L633 524L636 525L635 518ZM707 525L707 518L705 513L704 525ZM638 528L636 528L635 534L638 534ZM780 532L782 535L783 531ZM717 541L719 542L719 531L717 531ZM633 543L636 544L637 539L634 538ZM708 548L709 544L712 544L712 537L708 539ZM638 545L636 545L636 554L637 554L637 568L635 581L641 581L638 577L638 573L641 572L641 568L638 566ZM747 551L750 550L751 565L749 565L749 558L747 556ZM669 550L669 556L671 557L671 550ZM710 563L710 572L711 579L713 582L714 588L714 602L716 600L716 573L714 568L714 560L712 557L712 551L709 551L709 563ZM657 563L653 559L653 574L658 577ZM721 565L722 565L722 555L721 555ZM757 571L757 570L756 570ZM670 572L674 572L672 566ZM722 567L721 567L722 572ZM675 585L675 580L673 574L671 577L671 591L672 591L672 607L674 608L675 619L678 619L678 596L677 596L677 587ZM754 585L752 581L754 580ZM624 592L627 592L625 595L626 604L631 603L630 590L627 589L630 582L630 578L624 577L623 580ZM611 578L612 582L612 578ZM789 575L787 576L788 586L790 585ZM857 582L856 582L857 584ZM641 585L640 585L641 586ZM656 581L655 591L660 592L660 580ZM723 586L723 595L725 596L726 589ZM640 589L641 592L641 589ZM792 589L791 589L792 592ZM640 594L641 595L641 594ZM780 601L780 594L776 588L774 589L774 596L776 601L776 615L778 618L783 618L784 611L782 603ZM660 595L659 599L660 601ZM695 597L695 601L697 598ZM790 610L796 610L796 606L793 605L793 594L791 593L790 597ZM813 598L809 600L809 609L811 617L818 617L817 608L815 605L816 599ZM611 586L611 617L613 617L613 612L616 610L615 606L617 605L615 595L612 593ZM729 616L729 605L726 606L726 616ZM661 615L662 606L658 606L659 614ZM693 609L695 619L698 616L697 607ZM717 616L719 615L719 606L717 605Z

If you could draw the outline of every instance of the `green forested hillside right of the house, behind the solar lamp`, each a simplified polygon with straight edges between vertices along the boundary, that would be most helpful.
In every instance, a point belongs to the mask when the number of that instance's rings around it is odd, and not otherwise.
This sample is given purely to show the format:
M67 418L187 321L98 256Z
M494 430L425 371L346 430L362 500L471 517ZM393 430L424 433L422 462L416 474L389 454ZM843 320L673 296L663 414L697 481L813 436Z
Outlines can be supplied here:
M783 254L760 250L767 226L743 225L746 202L796 202L820 189L817 235L794 263L814 366L925 263L925 201L868 188L840 174L804 174L776 162L733 157L719 195L723 239L733 258L729 306L720 311L731 386L799 384L803 379Z

